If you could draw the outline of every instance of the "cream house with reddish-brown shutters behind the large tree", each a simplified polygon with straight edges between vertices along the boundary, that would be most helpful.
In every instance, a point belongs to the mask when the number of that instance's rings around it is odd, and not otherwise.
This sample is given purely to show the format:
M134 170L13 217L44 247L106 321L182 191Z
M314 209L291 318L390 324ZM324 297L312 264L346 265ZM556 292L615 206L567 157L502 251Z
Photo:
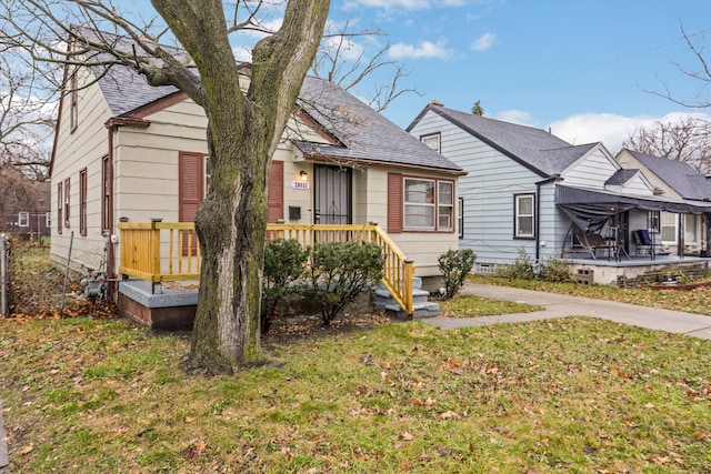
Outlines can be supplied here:
M242 68L249 81L250 68ZM124 67L68 69L52 154L51 254L82 271L120 265L117 222L190 222L210 184L207 119ZM84 87L86 85L86 87ZM461 168L343 89L307 78L269 174L269 222L377 222L419 276L458 248Z

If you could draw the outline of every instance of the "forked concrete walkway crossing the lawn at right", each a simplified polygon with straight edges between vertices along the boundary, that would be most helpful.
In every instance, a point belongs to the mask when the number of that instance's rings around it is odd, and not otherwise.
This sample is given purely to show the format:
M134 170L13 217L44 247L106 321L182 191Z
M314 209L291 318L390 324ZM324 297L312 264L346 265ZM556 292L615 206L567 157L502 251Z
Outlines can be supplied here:
M500 316L461 319L437 316L422 319L421 321L442 329L458 329L484 326L498 323L549 320L553 317L575 315L599 317L639 327L711 340L711 316L702 314L683 313L680 311L638 306L634 304L618 303L614 301L592 300L589 297L474 283L464 284L462 293L491 297L494 300L535 304L538 306L543 306L545 310L534 313L503 314Z

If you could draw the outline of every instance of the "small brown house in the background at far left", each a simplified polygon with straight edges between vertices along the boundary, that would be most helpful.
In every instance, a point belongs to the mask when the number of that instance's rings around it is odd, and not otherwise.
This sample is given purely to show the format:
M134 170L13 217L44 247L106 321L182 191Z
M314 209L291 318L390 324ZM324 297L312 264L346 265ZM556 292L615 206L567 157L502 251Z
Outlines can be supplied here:
M14 170L3 170L0 177L0 233L23 238L50 234L50 183L32 181Z

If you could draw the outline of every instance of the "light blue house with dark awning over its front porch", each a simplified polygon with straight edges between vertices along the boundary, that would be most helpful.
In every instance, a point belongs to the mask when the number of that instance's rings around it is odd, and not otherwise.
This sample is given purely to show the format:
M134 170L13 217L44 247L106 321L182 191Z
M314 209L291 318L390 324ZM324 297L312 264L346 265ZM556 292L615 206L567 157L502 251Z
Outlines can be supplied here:
M589 273L615 284L645 271L617 268L637 256L632 231L648 228L650 212L711 211L707 202L659 195L642 170L623 169L602 143L573 145L439 102L407 131L468 171L459 181L459 236L477 253L479 273L494 273L524 251L534 262L563 256L612 266Z

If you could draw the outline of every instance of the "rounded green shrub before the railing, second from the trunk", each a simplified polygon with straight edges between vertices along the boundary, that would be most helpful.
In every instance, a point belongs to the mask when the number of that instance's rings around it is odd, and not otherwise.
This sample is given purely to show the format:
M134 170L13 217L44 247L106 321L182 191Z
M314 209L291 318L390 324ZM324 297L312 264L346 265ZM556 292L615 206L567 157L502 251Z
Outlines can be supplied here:
M378 244L330 242L311 250L310 279L324 325L382 279L384 258Z

